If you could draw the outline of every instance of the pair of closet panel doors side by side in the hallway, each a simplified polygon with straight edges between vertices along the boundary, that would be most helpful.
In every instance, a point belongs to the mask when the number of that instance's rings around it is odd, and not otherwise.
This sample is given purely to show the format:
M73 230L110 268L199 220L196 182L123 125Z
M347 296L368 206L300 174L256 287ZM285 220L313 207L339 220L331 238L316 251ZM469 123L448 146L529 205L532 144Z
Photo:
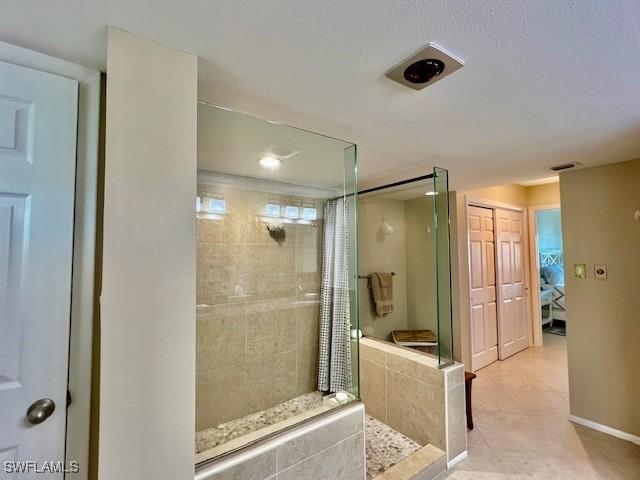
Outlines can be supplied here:
M520 207L467 206L474 371L529 346L525 217Z

